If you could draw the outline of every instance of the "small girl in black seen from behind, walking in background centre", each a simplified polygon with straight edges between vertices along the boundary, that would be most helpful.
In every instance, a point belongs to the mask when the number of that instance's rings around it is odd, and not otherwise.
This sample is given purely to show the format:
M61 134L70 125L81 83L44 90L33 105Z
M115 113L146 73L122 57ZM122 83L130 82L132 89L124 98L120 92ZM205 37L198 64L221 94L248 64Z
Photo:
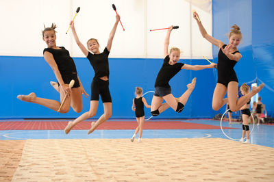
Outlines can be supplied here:
M135 133L132 136L131 141L132 142L134 141L134 138L136 138L138 131L140 131L138 142L141 142L142 126L144 125L144 122L145 122L144 105L147 108L150 108L151 106L147 105L147 101L145 100L144 97L142 97L142 88L136 87L135 94L136 94L136 98L133 99L132 110L135 111L135 116L136 116L136 120L138 123L138 127L136 127ZM134 106L135 106L135 108L134 108Z

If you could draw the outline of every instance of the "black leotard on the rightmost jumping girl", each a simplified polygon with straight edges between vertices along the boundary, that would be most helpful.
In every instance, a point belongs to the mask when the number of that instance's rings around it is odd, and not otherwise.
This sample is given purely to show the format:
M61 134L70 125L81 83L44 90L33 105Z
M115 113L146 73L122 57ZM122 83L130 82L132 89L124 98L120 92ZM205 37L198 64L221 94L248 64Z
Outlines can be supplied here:
M227 45L223 45L223 49ZM240 53L239 51L235 51L232 54ZM234 66L237 62L235 60L229 60L229 58L223 53L223 51L219 50L218 53L218 83L223 84L225 87L227 87L228 83L230 81L236 81L238 82L237 75L234 71Z

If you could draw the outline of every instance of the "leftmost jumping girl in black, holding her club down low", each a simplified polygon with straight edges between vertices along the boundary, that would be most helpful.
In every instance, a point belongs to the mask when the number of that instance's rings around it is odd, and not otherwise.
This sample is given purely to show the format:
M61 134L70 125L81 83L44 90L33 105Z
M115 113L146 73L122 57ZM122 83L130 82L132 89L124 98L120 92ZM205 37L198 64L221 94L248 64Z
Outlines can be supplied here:
M88 94L86 94L82 83L79 80L73 58L69 55L69 51L64 47L56 46L55 28L55 24L52 24L51 27L45 27L42 31L42 38L47 44L47 48L44 49L44 58L49 66L51 66L55 77L58 80L58 84L55 84L55 89L60 92L60 101L68 94L66 101L64 101L64 105L62 105L62 108L60 109L60 113L69 112L70 107L72 107L75 112L81 112L83 108L82 94L85 94L86 96L88 96ZM73 88L69 88L71 79L74 79L75 81ZM29 95L18 95L17 98L21 101L44 105L56 112L60 107L60 102L37 97L34 92Z

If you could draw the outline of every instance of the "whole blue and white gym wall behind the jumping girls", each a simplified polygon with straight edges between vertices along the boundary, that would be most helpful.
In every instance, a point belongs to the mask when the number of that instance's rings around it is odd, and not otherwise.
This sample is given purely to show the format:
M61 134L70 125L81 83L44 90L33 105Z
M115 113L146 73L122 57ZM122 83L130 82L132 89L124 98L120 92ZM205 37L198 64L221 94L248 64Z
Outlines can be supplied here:
M71 31L69 34L65 32L79 6L81 10L75 18L75 27L80 40L85 43L89 38L97 38L103 51L115 21L112 3L116 5L125 27L125 31L120 25L117 28L110 53L112 118L134 118L131 107L136 86L142 87L145 92L153 90L155 77L162 66L166 31L152 32L149 29L179 25L179 29L172 32L170 45L182 49L181 61L186 64L208 64L202 57L212 59L213 55L216 62L216 49L212 49L212 45L201 37L197 23L191 16L192 9L199 12L208 33L223 42L227 42L225 34L229 32L231 25L236 23L240 26L244 39L239 48L243 58L236 65L239 81L242 83L258 79L259 83L266 83L267 89L261 92L262 101L266 103L269 114L273 115L273 100L269 98L274 89L271 75L273 36L270 33L273 25L264 23L273 18L273 12L269 10L271 0L260 3L251 0L214 0L212 3L208 0L2 0L0 16L5 18L1 20L0 29L0 118L79 116L72 109L67 114L59 114L40 105L19 101L16 96L35 92L37 96L47 99L60 99L59 94L49 84L49 81L55 81L53 71L42 57L46 44L42 41L41 30L44 24L50 26L51 23L58 25L58 46L64 46L70 51L79 78L86 92L90 94L94 71L79 51ZM260 38L260 31L263 32L263 38ZM184 112L176 114L168 109L159 118L212 118L216 113L223 112L223 109L214 112L211 107L216 70L180 71L171 80L173 94L180 96L193 77L197 77L197 87ZM147 94L149 104L151 98L152 94ZM90 106L90 97L83 97L83 101L83 112L86 112ZM99 104L95 118L102 113L103 106ZM149 116L149 109L146 109L146 115Z

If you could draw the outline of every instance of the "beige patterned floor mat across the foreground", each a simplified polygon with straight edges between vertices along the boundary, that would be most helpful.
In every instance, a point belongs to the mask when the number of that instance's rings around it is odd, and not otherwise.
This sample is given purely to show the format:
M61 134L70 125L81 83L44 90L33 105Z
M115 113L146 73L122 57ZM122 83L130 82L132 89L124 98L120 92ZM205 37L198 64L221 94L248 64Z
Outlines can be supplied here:
M221 138L8 142L0 181L273 181L274 148ZM23 146L23 147L22 147ZM16 147L15 147L16 148ZM3 168L14 158L16 171ZM4 160L3 160L4 159ZM5 162L3 162L5 161Z

